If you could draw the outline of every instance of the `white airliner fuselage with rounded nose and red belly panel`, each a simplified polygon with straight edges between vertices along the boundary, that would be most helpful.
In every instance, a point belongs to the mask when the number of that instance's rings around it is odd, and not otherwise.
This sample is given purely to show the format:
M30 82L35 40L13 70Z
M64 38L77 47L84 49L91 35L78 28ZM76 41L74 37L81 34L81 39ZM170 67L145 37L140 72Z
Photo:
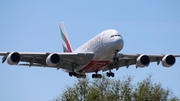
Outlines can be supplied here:
M74 52L93 52L92 61L78 66L75 72L97 72L102 70L112 59L115 51L123 48L124 41L117 30L109 29L101 32Z

